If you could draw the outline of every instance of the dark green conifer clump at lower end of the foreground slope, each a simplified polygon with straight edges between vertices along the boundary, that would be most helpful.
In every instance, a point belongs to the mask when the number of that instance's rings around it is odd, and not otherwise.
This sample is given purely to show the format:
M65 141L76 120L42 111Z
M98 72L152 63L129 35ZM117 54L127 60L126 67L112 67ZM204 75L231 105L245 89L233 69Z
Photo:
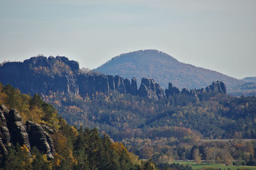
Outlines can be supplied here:
M77 157L77 169L133 169L134 165L127 155L116 154L111 149L108 136L99 136L97 129L79 129L74 144Z

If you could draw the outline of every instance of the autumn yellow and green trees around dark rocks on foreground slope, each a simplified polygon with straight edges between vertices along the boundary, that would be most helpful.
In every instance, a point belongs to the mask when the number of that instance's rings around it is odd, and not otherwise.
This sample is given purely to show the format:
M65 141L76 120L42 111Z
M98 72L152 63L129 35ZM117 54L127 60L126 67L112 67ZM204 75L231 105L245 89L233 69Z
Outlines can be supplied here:
M0 104L17 109L23 122L30 120L51 127L56 150L54 158L47 159L35 146L29 150L26 145L12 143L8 155L0 155L1 169L157 169L151 160L142 162L122 143L113 143L107 134L100 135L95 128L68 125L37 94L20 94L12 86L0 83Z

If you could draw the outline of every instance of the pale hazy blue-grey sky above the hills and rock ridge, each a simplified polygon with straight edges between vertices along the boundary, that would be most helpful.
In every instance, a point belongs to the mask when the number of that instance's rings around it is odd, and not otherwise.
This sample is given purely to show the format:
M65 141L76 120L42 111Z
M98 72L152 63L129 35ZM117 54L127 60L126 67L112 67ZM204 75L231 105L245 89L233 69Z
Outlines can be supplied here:
M256 0L0 1L0 62L61 55L93 69L142 49L256 76Z

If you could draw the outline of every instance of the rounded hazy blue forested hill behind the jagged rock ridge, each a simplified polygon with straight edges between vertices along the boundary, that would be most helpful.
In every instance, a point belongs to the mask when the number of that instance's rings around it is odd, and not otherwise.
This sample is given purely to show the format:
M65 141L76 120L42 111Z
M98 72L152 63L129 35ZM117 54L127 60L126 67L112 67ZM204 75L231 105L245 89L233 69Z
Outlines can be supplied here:
M179 89L206 87L212 81L223 81L228 92L244 83L225 74L218 73L202 67L179 62L167 53L157 50L139 50L123 53L94 69L104 74L120 75L124 78L143 77L153 78L161 87L166 88L168 82Z

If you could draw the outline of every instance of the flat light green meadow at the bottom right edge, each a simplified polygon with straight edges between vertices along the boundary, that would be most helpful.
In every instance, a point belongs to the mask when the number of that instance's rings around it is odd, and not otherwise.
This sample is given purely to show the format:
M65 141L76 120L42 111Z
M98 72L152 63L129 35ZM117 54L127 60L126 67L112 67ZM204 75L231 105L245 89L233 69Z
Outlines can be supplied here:
M201 164L195 164L194 162L175 162L179 164L186 164L188 166L191 166L192 169L202 169L203 167L213 167L213 168L221 168L223 169L230 169L230 170L236 170L236 169L242 169L242 168L248 168L252 170L256 170L256 166L225 166L225 164L209 164L208 162L202 162Z

